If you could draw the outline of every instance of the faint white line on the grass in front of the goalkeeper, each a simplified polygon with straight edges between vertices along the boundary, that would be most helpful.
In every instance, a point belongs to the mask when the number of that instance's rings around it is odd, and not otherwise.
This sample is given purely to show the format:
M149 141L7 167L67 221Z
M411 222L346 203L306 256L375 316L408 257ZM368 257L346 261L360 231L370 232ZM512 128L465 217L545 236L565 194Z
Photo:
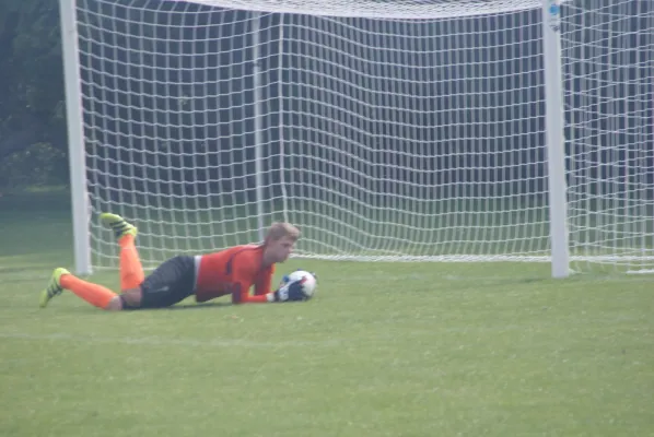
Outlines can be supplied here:
M279 341L279 342L256 342L249 340L191 340L191 339L162 339L157 336L129 338L129 336L95 336L95 335L72 335L65 333L57 334L28 334L22 332L0 332L1 339L19 340L46 340L62 342L83 343L110 343L110 344L142 344L148 346L190 346L190 347L305 347L325 346L335 347L340 343L336 340L326 341Z

